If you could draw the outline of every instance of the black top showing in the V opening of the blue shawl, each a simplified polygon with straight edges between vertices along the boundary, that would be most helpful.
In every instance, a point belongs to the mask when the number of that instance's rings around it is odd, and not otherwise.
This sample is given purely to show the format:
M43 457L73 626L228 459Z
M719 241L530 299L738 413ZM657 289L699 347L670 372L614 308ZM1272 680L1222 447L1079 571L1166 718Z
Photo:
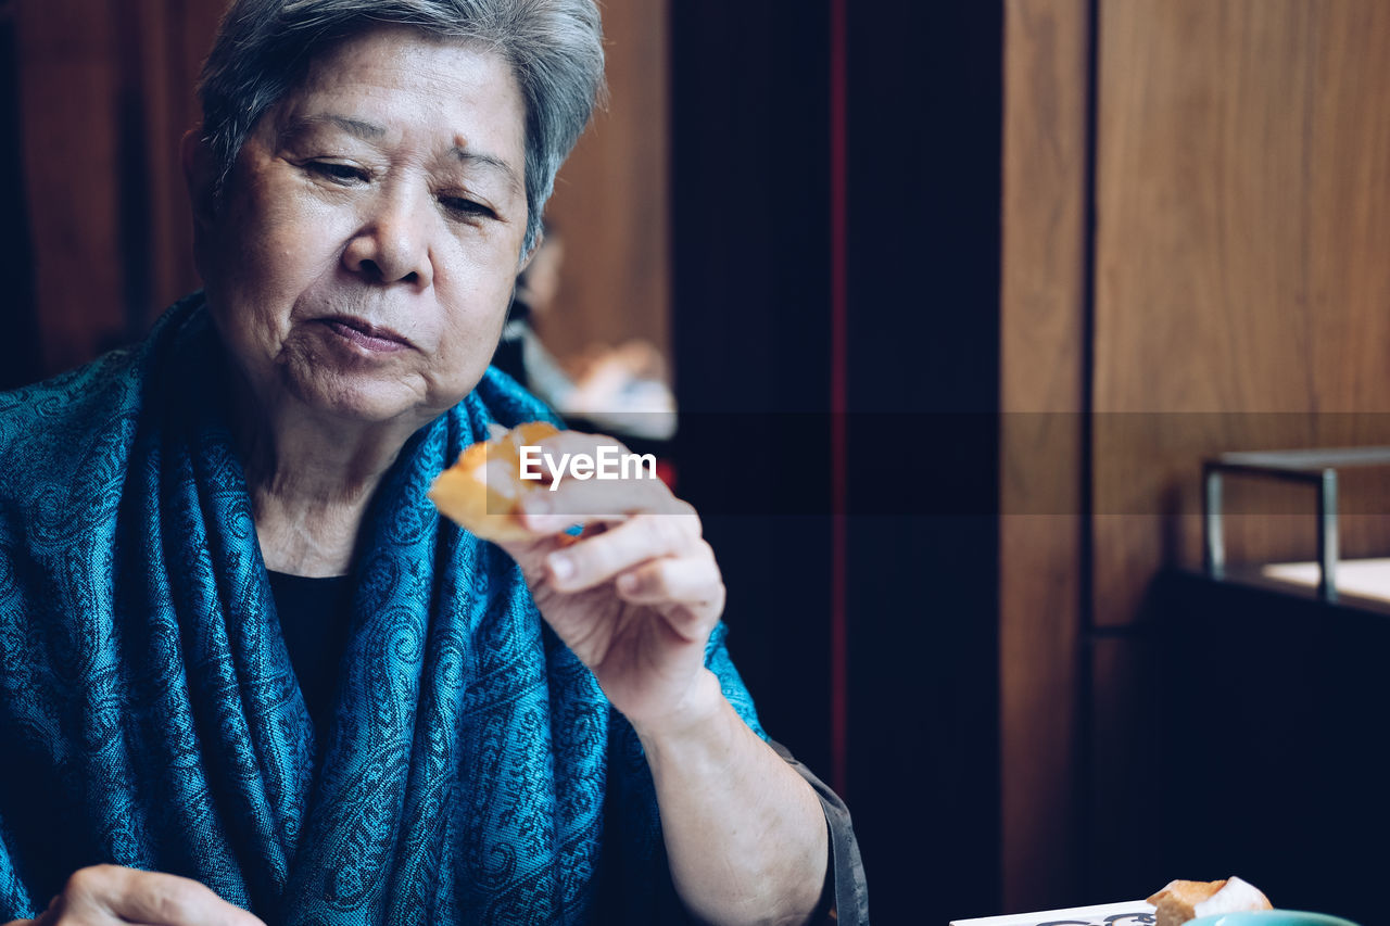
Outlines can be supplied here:
M289 649L289 663L304 692L304 705L322 741L328 730L338 669L348 648L352 623L352 576L309 578L288 573L270 574L279 630Z

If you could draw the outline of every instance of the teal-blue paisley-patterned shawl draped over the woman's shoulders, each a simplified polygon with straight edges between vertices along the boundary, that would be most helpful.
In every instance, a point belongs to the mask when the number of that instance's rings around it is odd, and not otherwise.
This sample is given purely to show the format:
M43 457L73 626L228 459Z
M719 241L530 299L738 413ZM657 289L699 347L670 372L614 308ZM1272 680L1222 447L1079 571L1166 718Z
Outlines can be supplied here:
M489 371L388 474L322 754L195 295L0 395L0 920L78 868L193 877L270 923L670 922L635 734L431 478L546 412ZM708 662L758 726L723 627Z

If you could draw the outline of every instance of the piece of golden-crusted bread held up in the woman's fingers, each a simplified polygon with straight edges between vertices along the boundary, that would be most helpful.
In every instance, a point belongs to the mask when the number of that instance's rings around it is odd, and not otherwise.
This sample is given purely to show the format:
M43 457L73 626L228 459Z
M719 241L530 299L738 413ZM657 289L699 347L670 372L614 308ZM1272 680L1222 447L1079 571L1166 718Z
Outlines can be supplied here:
M545 421L518 424L510 431L478 441L459 455L457 463L435 478L430 501L439 512L491 541L534 539L518 517L521 498L546 488L539 480L521 478L521 448L534 446L559 431Z

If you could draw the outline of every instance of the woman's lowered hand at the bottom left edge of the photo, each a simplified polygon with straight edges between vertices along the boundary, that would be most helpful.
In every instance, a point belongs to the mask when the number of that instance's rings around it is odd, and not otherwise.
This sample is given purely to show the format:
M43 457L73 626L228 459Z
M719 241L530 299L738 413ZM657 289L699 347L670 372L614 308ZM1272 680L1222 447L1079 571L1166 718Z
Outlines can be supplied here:
M38 919L7 926L265 926L188 877L93 865L68 879Z

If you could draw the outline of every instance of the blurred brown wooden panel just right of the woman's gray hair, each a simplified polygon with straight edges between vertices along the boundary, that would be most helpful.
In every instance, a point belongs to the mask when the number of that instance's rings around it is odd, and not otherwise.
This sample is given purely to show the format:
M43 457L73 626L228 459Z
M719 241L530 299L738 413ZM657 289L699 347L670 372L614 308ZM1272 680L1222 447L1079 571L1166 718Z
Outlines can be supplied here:
M564 267L556 324L542 336L560 355L646 338L670 356L667 15L649 0L603 4L610 106L560 170L546 210Z

